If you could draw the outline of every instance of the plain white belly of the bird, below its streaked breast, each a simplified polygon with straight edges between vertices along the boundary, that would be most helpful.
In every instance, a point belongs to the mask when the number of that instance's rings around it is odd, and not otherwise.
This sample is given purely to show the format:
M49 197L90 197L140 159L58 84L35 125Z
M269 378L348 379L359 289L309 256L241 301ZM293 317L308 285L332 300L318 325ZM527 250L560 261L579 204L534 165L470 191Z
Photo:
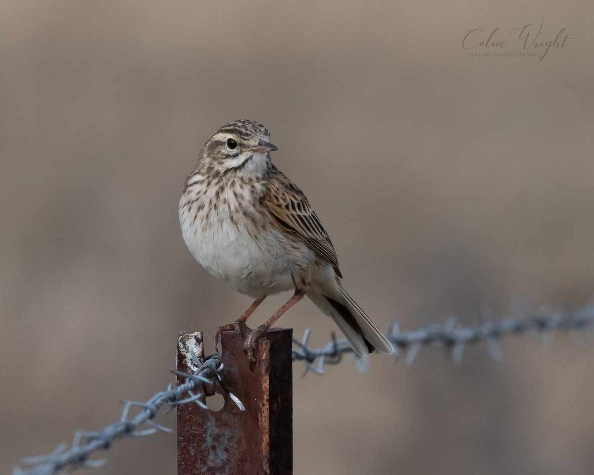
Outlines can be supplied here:
M220 210L214 219L214 213L201 210L194 220L193 210L180 208L182 235L194 258L213 276L253 297L294 290L292 274L314 262L311 249L276 228L263 232L245 216L233 217Z

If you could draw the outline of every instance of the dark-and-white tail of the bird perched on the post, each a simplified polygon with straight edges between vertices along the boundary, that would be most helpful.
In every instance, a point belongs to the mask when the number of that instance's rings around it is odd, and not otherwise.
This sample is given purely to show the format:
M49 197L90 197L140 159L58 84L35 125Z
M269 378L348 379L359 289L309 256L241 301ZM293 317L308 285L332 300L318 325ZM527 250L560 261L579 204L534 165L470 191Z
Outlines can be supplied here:
M378 350L380 353L394 353L394 347L390 341L384 337L340 283L336 284L336 289L332 290L338 292L327 292L331 296L327 296L325 293L308 293L307 296L321 311L332 317L359 356L372 353L374 350Z

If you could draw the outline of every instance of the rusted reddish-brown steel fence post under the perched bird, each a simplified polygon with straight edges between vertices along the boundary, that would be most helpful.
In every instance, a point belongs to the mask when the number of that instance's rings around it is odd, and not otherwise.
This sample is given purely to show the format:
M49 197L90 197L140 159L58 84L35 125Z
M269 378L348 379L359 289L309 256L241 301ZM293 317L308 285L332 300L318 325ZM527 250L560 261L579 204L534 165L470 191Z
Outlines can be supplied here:
M292 335L290 328L269 330L258 342L252 370L242 336L222 333L223 386L245 411L219 387L215 391L225 398L219 411L194 403L179 406L178 475L292 475ZM185 357L192 345L200 346L197 334L179 336L179 371L195 370Z

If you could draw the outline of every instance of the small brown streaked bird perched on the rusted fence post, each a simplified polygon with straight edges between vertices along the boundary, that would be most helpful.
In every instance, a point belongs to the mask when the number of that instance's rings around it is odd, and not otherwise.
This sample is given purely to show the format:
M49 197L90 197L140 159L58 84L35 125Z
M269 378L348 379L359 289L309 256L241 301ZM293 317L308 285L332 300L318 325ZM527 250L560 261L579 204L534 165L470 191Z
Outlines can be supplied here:
M195 169L185 179L179 201L182 236L194 258L213 276L254 298L233 323L245 334L244 350L253 362L257 341L304 296L329 315L359 356L394 347L346 292L330 236L305 194L276 165L264 125L242 119L210 137ZM292 297L263 325L246 321L269 295Z

